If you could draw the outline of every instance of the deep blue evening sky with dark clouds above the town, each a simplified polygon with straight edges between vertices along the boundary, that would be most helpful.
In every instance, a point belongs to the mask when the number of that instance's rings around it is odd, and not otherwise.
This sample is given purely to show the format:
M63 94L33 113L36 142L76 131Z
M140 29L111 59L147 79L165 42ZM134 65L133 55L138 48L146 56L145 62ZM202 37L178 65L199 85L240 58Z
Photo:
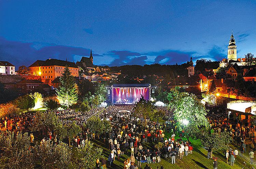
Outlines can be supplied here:
M0 1L1 60L181 64L256 54L256 1Z

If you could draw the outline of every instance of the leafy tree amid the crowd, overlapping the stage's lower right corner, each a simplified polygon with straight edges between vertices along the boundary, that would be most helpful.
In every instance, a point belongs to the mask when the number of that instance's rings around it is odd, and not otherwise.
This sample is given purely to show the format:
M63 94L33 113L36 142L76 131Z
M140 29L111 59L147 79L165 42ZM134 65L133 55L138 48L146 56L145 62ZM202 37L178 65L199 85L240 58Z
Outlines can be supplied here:
M147 101L141 96L139 102L137 102L134 108L134 115L137 117L143 117L144 119L144 126L147 125L147 119L154 120L154 106L152 105L151 101Z

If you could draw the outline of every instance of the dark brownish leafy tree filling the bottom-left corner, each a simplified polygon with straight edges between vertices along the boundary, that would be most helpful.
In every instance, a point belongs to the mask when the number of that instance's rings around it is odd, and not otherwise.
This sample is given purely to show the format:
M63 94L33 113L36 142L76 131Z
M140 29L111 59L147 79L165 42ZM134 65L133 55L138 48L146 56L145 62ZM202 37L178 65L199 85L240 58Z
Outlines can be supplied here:
M1 131L0 168L34 168L32 149L28 133Z

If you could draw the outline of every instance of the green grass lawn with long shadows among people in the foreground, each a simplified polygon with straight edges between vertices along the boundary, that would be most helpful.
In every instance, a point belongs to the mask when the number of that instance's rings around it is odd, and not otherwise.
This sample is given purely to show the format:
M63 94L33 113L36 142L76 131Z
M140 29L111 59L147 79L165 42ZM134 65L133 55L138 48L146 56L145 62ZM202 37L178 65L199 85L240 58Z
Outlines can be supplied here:
M166 133L166 137L169 138L170 133ZM186 140L185 137L183 137L184 140ZM161 156L161 162L160 163L151 163L149 164L150 167L152 167L153 169L156 169L157 166L162 165L165 169L176 169L176 168L213 168L213 159L207 159L207 150L203 149L201 147L201 141L200 140L190 140L192 145L193 145L193 154L188 154L188 156L184 156L183 159L176 159L176 163L175 164L171 164L171 158L163 158ZM103 155L105 156L106 159L108 159L109 154L110 154L110 150L108 149L108 147L106 147L104 145L103 142L101 142L100 140L94 140L93 143L95 144L95 146L100 146L101 148L103 148ZM216 143L217 144L217 143ZM144 147L145 145L143 145ZM151 145L152 146L152 145ZM150 145L148 145L148 147L150 147ZM234 146L231 146L233 149L235 148ZM247 156L245 158L241 157L241 156L237 156L234 166L230 166L228 164L226 164L226 158L225 158L225 152L226 150L222 150L220 152L213 152L213 156L218 157L218 169L226 169L226 168L253 168L253 166L250 164L250 159L248 158L248 152L246 153ZM128 155L130 155L130 151L128 152ZM117 157L116 160L114 161L114 164L112 166L112 168L124 168L124 159L129 158L130 156L128 155L122 155L120 158L120 161L117 161ZM245 163L246 164L245 164ZM136 161L137 163L137 161ZM142 163L142 168L144 168L146 166L146 163ZM254 165L255 166L255 165ZM110 168L110 167L108 167Z

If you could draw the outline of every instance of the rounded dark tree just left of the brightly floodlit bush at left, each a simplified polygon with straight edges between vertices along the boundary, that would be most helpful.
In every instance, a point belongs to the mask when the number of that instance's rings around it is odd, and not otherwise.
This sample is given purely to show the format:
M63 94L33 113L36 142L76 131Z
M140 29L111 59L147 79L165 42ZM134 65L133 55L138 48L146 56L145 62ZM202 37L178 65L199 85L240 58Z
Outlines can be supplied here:
M26 94L15 99L14 104L20 109L31 109L35 106L35 101L32 97Z

